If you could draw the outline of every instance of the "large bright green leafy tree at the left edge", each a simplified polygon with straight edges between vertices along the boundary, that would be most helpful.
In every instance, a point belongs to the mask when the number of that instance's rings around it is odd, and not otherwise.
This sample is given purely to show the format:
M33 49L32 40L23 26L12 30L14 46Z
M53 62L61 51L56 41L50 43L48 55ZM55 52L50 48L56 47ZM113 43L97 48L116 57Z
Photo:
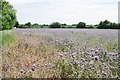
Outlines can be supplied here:
M2 4L2 30L12 29L17 22L16 10L5 0L0 0L0 4Z

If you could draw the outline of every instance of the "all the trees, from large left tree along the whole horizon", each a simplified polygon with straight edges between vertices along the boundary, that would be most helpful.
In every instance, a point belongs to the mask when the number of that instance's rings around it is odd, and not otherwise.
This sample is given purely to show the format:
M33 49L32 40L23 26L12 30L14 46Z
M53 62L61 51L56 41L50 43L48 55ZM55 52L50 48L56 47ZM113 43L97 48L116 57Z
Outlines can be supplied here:
M108 20L101 21L96 25L87 25L85 22L79 22L78 24L61 24L59 22L53 22L51 24L31 24L31 22L25 24L19 24L16 18L16 10L14 7L5 0L0 0L0 30L9 30L12 28L88 28L88 29L120 29L120 23L113 23Z

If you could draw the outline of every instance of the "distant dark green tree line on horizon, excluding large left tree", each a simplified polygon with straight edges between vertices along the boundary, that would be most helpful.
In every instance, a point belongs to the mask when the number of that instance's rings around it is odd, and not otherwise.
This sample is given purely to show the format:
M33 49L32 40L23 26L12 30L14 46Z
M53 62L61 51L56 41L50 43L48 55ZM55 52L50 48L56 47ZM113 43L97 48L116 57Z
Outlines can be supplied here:
M120 24L112 23L108 20L101 21L99 24L96 25L86 25L85 22L79 22L78 24L61 24L59 22L53 22L50 25L48 24L31 24L30 22L25 24L17 24L15 25L17 28L81 28L81 29L120 29Z

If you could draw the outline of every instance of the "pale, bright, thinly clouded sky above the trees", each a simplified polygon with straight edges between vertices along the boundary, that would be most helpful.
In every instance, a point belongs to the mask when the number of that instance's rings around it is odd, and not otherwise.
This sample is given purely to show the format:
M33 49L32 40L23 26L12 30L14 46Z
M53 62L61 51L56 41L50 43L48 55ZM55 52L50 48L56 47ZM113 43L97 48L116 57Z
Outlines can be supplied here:
M50 24L98 24L109 20L118 22L119 0L7 0L17 10L17 20Z

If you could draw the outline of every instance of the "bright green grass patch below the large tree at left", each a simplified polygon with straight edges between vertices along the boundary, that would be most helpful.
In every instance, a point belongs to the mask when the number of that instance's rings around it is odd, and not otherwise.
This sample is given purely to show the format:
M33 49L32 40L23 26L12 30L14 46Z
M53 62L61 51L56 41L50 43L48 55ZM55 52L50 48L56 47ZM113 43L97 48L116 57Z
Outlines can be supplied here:
M0 45L6 46L15 42L15 35L13 31L1 31L0 32Z

